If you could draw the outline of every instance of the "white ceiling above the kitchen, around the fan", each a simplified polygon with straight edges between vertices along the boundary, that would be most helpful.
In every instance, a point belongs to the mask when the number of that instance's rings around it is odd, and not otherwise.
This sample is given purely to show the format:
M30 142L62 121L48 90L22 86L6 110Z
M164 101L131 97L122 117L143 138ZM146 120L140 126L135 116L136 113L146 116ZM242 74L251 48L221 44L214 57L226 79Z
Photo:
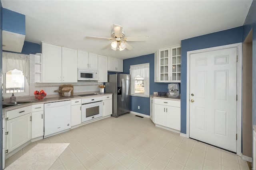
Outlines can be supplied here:
M181 40L242 26L252 0L1 0L3 8L26 15L25 41L62 46L126 59L178 45ZM149 36L129 42L131 51L102 49L113 24L125 37Z

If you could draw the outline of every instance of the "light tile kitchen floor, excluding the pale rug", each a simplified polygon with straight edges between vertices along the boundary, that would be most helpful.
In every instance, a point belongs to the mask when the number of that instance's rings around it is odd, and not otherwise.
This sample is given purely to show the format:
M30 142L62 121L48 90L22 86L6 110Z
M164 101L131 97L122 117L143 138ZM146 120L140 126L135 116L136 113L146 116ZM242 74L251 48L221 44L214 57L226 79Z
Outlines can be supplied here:
M6 160L10 165L38 143L70 143L50 170L248 170L236 154L155 127L134 114L110 117L28 146Z

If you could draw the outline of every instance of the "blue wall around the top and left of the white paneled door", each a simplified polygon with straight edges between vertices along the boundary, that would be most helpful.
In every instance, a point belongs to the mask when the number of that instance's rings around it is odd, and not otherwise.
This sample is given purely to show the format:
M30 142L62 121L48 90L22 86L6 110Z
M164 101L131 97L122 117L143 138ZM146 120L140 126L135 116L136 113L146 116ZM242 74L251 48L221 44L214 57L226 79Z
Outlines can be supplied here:
M181 41L181 132L186 134L187 51L242 42L243 27L232 28Z

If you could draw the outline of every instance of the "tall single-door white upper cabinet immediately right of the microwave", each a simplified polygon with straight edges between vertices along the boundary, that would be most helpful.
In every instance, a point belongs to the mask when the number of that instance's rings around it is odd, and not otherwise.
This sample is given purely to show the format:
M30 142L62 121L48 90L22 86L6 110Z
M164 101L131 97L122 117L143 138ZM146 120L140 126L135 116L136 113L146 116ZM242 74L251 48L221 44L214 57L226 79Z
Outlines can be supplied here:
M98 82L108 82L108 57L98 55L99 80Z

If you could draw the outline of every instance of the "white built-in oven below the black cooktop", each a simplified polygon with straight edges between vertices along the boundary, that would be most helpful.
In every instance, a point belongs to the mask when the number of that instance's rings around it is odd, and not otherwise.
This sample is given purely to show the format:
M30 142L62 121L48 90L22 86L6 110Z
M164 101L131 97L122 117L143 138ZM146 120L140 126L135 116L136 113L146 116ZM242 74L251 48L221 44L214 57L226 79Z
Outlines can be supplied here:
M82 99L82 122L102 117L102 96Z

